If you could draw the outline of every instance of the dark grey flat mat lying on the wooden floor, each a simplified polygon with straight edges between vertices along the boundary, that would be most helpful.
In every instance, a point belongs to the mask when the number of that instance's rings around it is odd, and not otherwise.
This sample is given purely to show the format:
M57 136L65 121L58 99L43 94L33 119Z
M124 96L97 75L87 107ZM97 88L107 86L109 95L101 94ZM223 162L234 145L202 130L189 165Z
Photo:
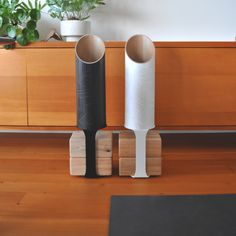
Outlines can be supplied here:
M110 236L236 236L236 195L111 199Z

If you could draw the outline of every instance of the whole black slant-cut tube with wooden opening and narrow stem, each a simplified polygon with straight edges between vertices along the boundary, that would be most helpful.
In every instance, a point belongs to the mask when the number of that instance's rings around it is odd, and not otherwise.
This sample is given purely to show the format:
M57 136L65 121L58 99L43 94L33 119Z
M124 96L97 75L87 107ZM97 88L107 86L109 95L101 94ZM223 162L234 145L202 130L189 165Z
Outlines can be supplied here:
M96 132L106 127L105 45L95 35L83 36L76 45L77 126L86 142L85 177L95 178Z

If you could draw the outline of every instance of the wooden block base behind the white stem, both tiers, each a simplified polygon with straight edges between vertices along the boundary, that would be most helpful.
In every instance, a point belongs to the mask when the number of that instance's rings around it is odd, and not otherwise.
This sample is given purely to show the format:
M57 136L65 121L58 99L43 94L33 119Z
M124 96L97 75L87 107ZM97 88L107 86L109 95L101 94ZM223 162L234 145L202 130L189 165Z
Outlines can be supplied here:
M161 137L157 130L150 130L146 141L146 168L149 176L160 176L162 171ZM119 134L119 175L132 176L135 172L135 135L133 131Z

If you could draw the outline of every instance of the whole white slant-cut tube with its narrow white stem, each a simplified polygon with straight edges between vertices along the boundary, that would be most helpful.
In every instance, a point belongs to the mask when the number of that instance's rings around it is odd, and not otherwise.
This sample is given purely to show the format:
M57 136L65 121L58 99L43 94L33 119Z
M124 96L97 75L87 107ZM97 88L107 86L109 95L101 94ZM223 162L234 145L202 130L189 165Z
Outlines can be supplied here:
M133 177L148 177L146 135L155 127L155 47L144 35L131 37L125 47L125 127L136 137Z

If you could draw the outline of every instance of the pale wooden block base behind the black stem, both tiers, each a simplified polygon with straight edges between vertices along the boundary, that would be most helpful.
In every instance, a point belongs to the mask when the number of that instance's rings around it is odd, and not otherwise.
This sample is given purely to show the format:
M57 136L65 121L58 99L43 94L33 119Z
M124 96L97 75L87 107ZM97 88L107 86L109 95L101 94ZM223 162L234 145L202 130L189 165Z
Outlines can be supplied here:
M112 175L112 131L96 134L97 174ZM83 131L73 132L70 138L70 175L84 176L86 169L85 136Z

